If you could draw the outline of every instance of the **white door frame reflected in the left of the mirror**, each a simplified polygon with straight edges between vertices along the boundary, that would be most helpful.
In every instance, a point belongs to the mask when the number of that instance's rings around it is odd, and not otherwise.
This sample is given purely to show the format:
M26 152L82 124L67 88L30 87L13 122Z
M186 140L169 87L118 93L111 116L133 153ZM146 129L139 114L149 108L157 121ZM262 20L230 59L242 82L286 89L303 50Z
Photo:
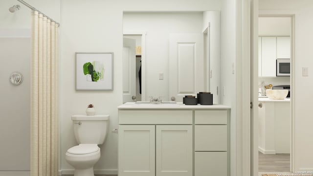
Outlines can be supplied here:
M123 36L141 36L141 101L146 101L146 35L145 31L123 32Z

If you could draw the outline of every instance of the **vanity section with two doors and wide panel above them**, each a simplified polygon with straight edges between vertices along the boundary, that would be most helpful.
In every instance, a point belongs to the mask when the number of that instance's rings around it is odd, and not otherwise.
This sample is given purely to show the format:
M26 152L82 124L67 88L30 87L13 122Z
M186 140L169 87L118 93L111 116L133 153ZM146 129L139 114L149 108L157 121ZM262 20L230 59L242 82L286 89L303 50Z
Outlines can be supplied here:
M119 176L193 176L192 110L120 110L119 124Z

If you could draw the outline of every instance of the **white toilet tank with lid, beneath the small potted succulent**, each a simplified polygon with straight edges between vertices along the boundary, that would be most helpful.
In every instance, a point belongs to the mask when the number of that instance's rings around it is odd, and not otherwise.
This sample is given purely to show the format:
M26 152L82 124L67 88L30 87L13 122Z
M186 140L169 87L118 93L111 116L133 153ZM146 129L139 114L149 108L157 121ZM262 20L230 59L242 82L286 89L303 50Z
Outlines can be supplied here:
M79 144L103 144L110 115L72 115L73 129Z

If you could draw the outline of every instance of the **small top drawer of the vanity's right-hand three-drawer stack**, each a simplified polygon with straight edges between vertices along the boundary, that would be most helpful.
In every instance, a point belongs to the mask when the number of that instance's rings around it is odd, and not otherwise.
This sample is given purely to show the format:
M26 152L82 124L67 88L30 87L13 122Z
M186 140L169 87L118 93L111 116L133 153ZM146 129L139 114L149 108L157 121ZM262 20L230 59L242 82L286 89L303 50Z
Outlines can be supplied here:
M195 110L195 124L227 124L227 110Z

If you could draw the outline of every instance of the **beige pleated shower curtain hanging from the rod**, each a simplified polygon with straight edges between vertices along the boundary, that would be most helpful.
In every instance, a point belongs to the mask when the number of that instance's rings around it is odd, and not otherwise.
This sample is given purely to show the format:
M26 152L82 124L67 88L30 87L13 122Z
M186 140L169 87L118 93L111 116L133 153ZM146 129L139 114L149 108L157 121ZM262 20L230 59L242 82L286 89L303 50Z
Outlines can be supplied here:
M31 29L31 176L58 176L58 24L37 11Z

